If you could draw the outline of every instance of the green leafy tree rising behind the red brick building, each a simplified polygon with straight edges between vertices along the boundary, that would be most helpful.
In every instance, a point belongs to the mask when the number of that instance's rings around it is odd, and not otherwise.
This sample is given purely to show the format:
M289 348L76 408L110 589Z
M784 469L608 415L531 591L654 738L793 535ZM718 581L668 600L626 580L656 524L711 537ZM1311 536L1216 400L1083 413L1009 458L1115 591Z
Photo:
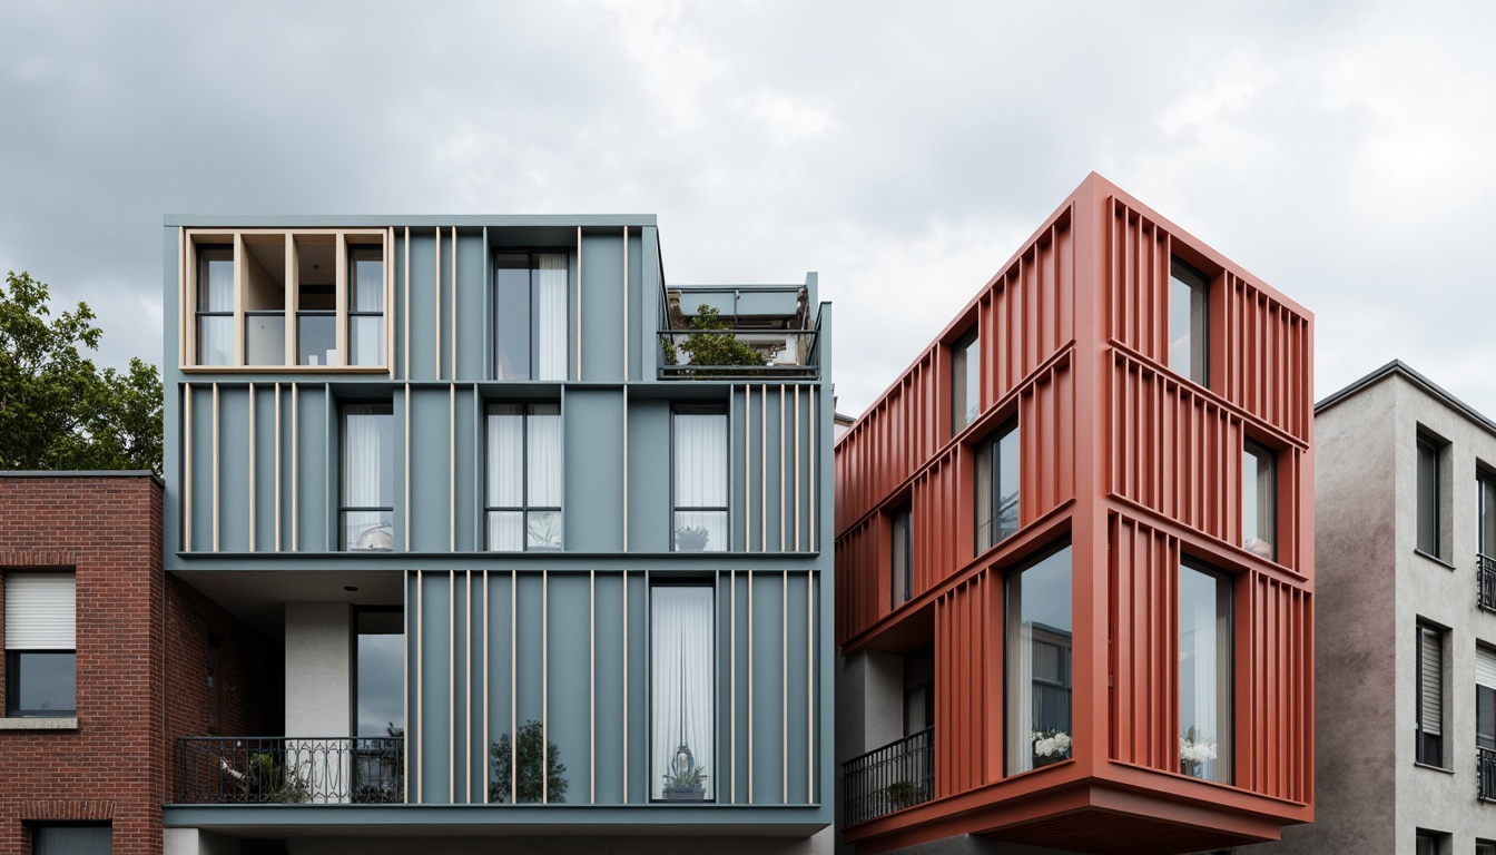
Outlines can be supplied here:
M130 359L99 370L88 304L55 319L46 285L6 274L0 287L0 469L162 472L162 376Z

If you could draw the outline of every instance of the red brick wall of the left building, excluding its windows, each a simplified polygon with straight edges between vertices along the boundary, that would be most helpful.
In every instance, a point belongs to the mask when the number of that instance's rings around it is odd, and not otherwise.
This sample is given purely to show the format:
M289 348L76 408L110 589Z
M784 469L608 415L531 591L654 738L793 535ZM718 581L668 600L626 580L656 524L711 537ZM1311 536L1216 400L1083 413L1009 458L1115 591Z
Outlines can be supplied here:
M114 852L160 854L171 737L183 732L168 719L206 716L205 669L193 665L202 627L247 630L163 578L162 488L148 475L0 478L0 638L7 570L72 570L78 624L78 728L0 729L0 852L30 852L39 824L108 822ZM178 629L188 623L197 630ZM3 669L0 657L0 704Z

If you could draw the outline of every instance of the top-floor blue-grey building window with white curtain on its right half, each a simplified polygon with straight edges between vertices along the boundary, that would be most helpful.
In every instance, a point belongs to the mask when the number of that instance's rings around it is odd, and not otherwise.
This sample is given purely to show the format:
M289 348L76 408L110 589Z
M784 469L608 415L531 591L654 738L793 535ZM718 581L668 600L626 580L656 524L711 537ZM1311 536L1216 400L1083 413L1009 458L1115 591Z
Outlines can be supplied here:
M567 377L565 253L494 256L494 376Z

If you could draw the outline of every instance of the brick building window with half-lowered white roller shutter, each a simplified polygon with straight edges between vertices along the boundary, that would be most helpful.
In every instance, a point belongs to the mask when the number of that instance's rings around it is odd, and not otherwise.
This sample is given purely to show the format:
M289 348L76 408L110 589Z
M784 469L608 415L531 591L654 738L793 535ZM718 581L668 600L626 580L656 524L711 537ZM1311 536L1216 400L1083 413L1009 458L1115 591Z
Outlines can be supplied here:
M4 573L6 716L78 710L75 575Z

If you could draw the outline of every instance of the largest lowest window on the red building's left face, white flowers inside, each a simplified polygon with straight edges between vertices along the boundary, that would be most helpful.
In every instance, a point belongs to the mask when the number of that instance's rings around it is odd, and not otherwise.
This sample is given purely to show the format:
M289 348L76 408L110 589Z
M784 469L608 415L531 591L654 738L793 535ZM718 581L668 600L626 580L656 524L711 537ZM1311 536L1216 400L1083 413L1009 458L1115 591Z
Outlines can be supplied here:
M1071 756L1070 545L1007 579L1008 774Z

